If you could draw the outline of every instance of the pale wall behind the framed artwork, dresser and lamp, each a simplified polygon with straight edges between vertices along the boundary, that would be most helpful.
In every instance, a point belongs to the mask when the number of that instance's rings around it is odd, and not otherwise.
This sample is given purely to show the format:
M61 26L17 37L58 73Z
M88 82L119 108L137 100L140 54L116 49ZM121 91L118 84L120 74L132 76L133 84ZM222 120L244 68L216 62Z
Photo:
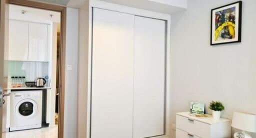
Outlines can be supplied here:
M210 10L233 1L188 0L187 10L172 14L171 123L191 100L223 102L226 118L233 111L256 113L256 0L242 1L241 43L209 44Z

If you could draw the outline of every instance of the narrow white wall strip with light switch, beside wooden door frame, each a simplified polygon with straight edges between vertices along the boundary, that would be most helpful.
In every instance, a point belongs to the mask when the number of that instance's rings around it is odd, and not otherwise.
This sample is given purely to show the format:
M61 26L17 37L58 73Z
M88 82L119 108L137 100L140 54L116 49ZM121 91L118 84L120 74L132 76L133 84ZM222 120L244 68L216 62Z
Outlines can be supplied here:
M77 60L78 60L78 9L66 8L66 66L64 100L64 138L76 137L77 124Z

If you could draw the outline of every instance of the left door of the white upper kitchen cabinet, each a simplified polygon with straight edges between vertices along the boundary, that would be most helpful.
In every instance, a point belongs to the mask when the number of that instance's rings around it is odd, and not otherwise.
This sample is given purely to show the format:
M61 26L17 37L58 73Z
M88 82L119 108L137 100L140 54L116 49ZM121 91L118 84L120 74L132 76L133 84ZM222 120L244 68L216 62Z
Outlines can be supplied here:
M9 20L8 60L26 61L28 55L28 22Z

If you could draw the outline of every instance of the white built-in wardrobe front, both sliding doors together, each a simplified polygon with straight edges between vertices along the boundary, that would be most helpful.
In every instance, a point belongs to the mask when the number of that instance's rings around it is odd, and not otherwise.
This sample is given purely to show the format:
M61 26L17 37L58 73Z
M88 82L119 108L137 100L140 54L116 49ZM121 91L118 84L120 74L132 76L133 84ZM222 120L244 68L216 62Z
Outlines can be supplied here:
M165 133L165 20L93 8L90 138Z

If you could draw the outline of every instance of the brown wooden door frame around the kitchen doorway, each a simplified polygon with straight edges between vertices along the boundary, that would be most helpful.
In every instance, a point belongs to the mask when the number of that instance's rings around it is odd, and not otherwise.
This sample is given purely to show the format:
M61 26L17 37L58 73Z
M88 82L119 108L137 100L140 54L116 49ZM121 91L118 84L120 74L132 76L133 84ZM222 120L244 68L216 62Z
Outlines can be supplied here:
M59 115L58 137L63 138L64 131L64 93L65 93L65 37L66 37L66 7L30 0L8 0L9 4L23 5L34 8L60 12L60 59L59 59ZM53 92L53 91L52 91Z

